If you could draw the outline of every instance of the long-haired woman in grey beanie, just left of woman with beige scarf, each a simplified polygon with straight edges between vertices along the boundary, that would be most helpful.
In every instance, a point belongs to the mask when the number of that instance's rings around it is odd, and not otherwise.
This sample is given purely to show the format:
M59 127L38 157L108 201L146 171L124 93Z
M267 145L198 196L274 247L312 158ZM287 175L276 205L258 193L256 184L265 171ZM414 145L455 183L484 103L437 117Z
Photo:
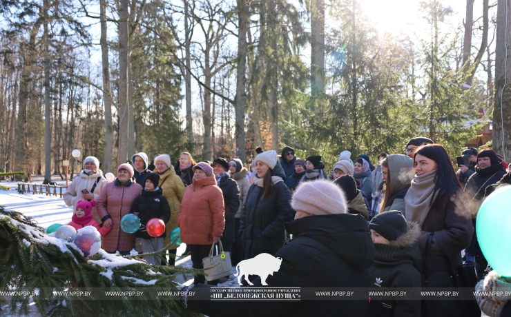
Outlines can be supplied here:
M385 181L385 195L380 205L380 212L397 210L406 216L405 196L414 178L414 161L406 155L392 154L380 162Z

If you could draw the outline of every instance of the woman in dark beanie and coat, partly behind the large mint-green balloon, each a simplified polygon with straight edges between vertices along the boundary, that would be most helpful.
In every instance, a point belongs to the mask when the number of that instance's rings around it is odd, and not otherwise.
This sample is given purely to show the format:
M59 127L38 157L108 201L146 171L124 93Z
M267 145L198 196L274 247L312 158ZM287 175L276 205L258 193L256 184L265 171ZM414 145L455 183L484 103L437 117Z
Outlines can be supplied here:
M482 278L488 261L485 259L476 236L476 218L479 207L484 201L486 188L499 182L505 175L505 169L496 153L491 149L485 149L477 154L476 172L468 178L465 186L470 207L472 207L472 223L474 225L474 236L472 243L466 250L466 259L476 265L478 278Z

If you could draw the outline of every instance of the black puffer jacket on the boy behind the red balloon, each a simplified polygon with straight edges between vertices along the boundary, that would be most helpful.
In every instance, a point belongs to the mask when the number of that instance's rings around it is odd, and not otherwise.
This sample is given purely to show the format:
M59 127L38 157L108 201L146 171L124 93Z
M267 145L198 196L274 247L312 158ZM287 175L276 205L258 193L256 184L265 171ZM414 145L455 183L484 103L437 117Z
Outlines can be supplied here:
M140 218L140 223L144 226L147 225L147 222L152 218L160 218L164 223L168 223L168 221L171 220L171 207L168 206L167 198L163 196L162 189L159 187L153 192L142 190L142 195L137 196L135 201L133 201L133 205L131 205L130 214L134 214L135 212L139 212L138 217ZM177 212L179 212L179 210ZM160 237L164 237L165 234L166 232ZM137 231L136 237L144 239L153 238L149 236L146 229Z

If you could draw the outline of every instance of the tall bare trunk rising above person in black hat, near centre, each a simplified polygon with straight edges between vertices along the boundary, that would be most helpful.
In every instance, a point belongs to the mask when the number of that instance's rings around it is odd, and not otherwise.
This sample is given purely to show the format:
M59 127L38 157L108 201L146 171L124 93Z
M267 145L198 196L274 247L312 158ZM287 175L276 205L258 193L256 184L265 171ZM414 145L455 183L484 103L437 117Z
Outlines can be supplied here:
M236 152L235 156L245 163L245 68L247 66L247 3L246 0L238 0L238 66L236 68Z

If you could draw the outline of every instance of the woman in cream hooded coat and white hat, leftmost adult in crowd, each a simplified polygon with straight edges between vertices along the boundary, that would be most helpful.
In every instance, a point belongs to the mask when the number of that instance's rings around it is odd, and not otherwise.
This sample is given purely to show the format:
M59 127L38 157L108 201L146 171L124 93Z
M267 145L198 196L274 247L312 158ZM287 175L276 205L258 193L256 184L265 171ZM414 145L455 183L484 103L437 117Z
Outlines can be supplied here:
M66 205L73 206L74 212L79 201L97 201L106 184L108 181L103 177L102 170L99 170L98 159L87 156L84 159L84 170L69 185L62 198ZM92 213L93 219L100 224L101 218L97 215L96 207L93 207Z

